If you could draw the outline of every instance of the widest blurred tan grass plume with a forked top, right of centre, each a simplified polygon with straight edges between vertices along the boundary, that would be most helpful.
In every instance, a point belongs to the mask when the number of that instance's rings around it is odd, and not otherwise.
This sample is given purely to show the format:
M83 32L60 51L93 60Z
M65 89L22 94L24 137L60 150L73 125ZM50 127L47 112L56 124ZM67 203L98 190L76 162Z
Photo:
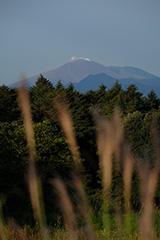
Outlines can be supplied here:
M122 131L120 126L119 111L115 110L111 120L102 118L97 111L94 112L97 127L97 147L99 151L100 168L103 184L103 225L107 237L110 237L110 195L112 182L113 153L120 158Z

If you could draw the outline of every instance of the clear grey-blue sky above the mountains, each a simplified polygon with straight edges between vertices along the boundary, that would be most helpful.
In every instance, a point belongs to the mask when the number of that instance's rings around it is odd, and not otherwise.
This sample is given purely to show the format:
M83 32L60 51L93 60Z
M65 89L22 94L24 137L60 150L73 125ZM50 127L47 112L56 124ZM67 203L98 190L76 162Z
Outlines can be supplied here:
M160 76L160 0L0 0L0 85L73 56Z

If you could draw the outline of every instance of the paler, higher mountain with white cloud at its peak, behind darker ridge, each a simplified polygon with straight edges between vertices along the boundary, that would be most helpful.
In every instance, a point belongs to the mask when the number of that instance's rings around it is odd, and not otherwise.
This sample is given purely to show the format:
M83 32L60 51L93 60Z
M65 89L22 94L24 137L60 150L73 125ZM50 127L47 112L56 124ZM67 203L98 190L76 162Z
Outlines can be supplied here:
M61 80L63 84L67 84L69 82L78 83L89 75L96 75L99 73L105 73L106 75L117 80L124 78L142 80L142 79L154 79L157 77L139 68L130 66L106 67L102 64L99 64L86 58L80 58L74 61L70 61L51 71L44 72L42 73L42 75L55 85L58 80ZM40 74L37 74L33 77L28 78L27 79L28 85L29 86L34 85L39 75ZM14 83L9 87L15 86L18 86L18 83Z

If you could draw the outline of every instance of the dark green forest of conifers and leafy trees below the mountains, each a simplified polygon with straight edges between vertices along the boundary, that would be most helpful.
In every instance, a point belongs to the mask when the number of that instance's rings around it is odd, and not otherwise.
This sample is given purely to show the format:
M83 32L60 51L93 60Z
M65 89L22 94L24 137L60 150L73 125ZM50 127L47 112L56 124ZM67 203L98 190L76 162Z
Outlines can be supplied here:
M92 116L94 108L99 108L104 117L110 118L115 107L119 107L125 138L131 144L133 155L143 157L147 152L151 162L154 161L150 129L155 117L160 126L160 99L153 90L145 97L135 85L131 84L123 90L116 82L110 89L102 84L98 90L90 90L84 94L74 89L72 83L64 87L59 81L54 87L40 75L35 86L29 88L29 94L37 148L37 169L45 186L44 198L48 216L52 212L49 221L54 218L53 212L57 209L52 206L53 195L50 193L48 179L57 174L68 178L74 168L67 142L57 122L53 102L57 95L70 106L85 173L89 176L88 191L91 194L96 196L100 188L96 132ZM32 216L31 210L28 210L31 206L25 180L27 165L28 147L17 89L3 85L0 86L0 197L5 216L15 217L22 223L30 222ZM51 196L48 198L49 194ZM156 200L160 204L158 194ZM137 202L133 204L135 209L138 208Z

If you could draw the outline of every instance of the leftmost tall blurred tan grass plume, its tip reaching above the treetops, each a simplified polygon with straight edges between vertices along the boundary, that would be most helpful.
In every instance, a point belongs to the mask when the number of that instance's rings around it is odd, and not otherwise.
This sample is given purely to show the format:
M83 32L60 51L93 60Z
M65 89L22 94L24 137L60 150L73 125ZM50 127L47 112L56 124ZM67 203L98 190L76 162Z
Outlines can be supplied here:
M42 190L40 180L36 173L35 159L36 159L36 145L34 138L34 129L32 122L32 114L30 107L30 100L28 91L23 83L19 88L19 105L23 115L24 128L26 132L27 143L29 146L29 169L28 169L28 186L30 192L30 199L33 208L35 221L39 223L40 231L43 239L48 239L46 230L45 214L42 201Z

